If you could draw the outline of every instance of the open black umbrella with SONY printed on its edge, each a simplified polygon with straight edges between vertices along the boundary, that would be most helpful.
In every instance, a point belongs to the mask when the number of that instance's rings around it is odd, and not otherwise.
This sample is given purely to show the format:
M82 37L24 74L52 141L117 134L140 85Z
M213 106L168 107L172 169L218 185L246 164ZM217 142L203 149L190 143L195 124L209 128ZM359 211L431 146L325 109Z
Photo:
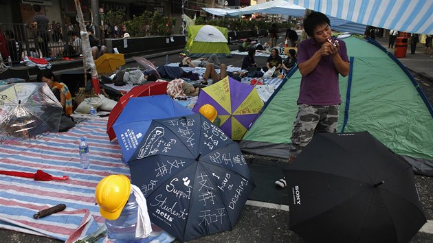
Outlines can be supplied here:
M368 132L315 135L285 176L308 242L409 242L426 222L412 167Z

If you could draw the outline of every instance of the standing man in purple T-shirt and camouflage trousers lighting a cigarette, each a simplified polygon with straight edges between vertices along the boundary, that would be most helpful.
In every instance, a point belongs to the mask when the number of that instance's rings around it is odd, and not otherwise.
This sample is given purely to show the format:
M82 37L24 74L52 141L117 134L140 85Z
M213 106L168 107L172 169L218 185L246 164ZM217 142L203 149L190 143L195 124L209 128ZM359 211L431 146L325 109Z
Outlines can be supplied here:
M346 43L331 36L328 17L312 12L304 19L310 37L298 45L298 68L302 75L298 114L291 135L289 161L300 154L315 132L336 132L339 106L339 74L348 76Z

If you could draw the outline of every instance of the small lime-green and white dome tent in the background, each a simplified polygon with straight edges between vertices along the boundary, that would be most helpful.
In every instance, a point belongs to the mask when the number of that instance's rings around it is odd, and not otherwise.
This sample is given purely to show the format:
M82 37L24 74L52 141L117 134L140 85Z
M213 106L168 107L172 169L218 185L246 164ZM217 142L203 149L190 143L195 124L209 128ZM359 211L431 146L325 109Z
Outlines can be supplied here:
M216 54L219 58L232 56L227 45L228 31L225 27L190 25L184 51L188 56L204 57Z

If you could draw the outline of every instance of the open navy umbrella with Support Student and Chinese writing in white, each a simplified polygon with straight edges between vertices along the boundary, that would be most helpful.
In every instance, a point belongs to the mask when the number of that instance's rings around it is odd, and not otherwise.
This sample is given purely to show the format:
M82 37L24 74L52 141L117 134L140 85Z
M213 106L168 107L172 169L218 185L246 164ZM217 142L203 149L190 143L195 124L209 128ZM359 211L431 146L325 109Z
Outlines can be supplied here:
M129 168L151 221L182 242L231 230L255 187L238 144L201 114L154 119Z

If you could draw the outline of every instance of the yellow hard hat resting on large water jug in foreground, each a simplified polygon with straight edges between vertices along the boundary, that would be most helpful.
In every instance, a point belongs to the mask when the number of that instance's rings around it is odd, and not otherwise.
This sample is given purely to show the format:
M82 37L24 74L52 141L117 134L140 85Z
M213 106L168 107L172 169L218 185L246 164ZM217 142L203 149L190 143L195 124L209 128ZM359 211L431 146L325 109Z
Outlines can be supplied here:
M96 186L95 198L102 217L117 220L131 193L131 182L123 174L104 177Z

